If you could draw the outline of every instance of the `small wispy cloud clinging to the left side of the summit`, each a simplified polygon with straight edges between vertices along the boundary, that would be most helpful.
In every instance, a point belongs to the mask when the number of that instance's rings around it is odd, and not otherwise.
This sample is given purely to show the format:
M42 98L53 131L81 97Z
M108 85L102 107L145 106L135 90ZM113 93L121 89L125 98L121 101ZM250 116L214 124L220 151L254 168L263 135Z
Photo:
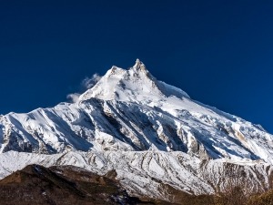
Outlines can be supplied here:
M80 84L81 93L70 93L66 96L66 98L70 102L77 102L80 95L84 93L87 89L91 89L92 87L94 87L96 83L100 80L100 78L101 76L99 76L97 73L94 74L92 77L86 77Z

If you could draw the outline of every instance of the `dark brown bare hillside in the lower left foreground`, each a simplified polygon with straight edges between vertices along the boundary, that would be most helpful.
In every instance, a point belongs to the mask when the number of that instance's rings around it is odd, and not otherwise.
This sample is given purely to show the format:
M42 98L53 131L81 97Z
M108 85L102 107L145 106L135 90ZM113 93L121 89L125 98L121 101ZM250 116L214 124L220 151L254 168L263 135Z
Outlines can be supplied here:
M112 173L112 175L115 173ZM29 165L0 180L1 205L169 204L130 197L118 181L74 167Z

